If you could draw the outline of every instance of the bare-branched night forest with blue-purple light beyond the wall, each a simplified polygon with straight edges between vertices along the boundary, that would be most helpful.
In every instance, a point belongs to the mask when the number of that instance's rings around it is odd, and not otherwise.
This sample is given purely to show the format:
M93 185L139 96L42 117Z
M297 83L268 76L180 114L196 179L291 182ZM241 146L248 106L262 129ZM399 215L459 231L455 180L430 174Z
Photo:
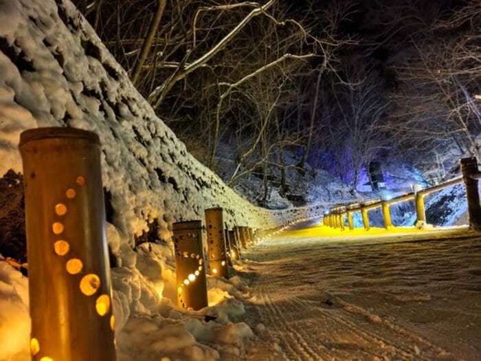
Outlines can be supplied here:
M232 149L231 186L282 194L311 166L356 187L372 161L436 179L478 155L478 0L74 2L192 154L219 171Z

